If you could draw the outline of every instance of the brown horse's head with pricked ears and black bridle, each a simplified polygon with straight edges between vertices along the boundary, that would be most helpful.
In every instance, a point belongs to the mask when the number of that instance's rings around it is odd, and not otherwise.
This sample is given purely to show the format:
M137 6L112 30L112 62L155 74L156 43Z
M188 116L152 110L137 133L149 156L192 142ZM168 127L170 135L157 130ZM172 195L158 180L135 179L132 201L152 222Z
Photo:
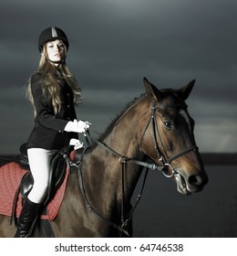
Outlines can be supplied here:
M158 90L144 79L150 118L140 148L155 163L164 166L164 175L174 178L183 195L201 191L208 182L194 139L194 121L185 103L194 82L191 80L177 91Z

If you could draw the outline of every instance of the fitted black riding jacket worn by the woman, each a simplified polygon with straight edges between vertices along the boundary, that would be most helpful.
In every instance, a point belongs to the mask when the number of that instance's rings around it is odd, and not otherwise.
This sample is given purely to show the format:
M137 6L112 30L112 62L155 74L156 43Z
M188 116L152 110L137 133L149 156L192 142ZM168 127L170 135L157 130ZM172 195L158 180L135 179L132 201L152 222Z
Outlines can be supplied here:
M26 147L48 150L60 149L67 146L71 138L77 138L77 133L64 132L67 122L77 119L73 93L66 81L61 79L61 109L55 114L51 99L46 97L42 91L43 76L42 72L36 72L31 78L31 90L36 106L36 119Z

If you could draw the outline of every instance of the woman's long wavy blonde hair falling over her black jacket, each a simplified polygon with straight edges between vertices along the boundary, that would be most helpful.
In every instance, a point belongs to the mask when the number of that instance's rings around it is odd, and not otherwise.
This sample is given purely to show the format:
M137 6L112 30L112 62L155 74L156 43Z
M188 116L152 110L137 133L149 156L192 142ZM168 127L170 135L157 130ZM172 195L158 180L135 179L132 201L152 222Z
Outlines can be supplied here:
M61 109L62 102L60 99L60 83L62 79L65 80L67 82L67 85L71 88L75 105L80 105L81 90L77 85L77 80L74 78L73 74L68 69L66 62L63 61L58 67L56 67L47 59L48 57L45 44L41 53L41 59L39 61L39 66L36 72L44 74L44 76L42 77L43 80L40 82L39 86L42 87L44 96L46 96L47 99L51 99L54 108L54 113L57 114L57 112L59 112ZM56 75L57 70L60 71L61 77ZM36 106L31 90L31 78L28 80L28 83L26 85L26 98L28 99L28 101L31 102L36 117Z

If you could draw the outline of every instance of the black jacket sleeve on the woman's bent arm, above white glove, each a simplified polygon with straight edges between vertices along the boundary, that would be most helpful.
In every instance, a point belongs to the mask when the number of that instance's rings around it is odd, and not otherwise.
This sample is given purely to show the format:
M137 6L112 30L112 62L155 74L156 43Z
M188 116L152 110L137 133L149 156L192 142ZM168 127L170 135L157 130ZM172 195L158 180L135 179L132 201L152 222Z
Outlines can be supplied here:
M31 80L31 90L36 106L36 120L46 128L64 132L67 120L58 119L54 114L51 99L47 99L41 87L41 80L35 76Z

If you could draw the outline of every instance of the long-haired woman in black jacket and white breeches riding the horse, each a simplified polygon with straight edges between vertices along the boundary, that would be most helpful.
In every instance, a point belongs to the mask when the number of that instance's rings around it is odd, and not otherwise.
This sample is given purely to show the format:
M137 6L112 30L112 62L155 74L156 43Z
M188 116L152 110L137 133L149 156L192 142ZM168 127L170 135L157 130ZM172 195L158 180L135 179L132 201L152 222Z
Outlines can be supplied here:
M41 59L26 88L35 111L35 126L27 142L34 186L18 219L17 238L29 237L34 228L46 197L52 156L90 126L77 122L74 106L80 102L80 90L66 65L68 47L67 36L58 27L48 27L39 36Z

